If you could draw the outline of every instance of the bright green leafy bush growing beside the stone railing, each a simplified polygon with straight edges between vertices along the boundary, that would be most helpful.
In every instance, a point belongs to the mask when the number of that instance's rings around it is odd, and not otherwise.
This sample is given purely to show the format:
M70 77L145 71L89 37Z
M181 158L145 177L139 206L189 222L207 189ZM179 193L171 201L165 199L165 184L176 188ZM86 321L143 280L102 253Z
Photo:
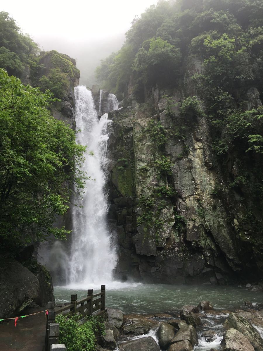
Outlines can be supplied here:
M87 321L79 324L78 315L66 316L59 314L59 343L65 344L67 351L95 351L96 336L104 335L105 327L100 316L88 316Z

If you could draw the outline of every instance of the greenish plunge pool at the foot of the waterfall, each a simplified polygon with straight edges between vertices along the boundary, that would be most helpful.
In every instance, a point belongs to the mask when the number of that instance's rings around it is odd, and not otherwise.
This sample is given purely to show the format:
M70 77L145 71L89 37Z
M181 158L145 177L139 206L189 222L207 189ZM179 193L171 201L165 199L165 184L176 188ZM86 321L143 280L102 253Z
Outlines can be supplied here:
M87 289L95 286L87 286ZM69 302L70 295L78 299L87 295L87 289L55 287L57 303ZM106 305L117 308L123 313L157 313L179 310L183 305L197 305L202 300L211 301L217 309L235 309L249 300L255 306L263 303L263 292L248 291L233 286L208 285L165 285L117 283L107 287Z

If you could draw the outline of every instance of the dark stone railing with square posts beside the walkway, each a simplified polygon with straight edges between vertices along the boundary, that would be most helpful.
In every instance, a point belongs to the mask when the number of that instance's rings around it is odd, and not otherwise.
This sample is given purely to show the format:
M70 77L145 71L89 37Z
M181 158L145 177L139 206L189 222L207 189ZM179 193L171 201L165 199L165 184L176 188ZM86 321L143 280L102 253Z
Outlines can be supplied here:
M66 351L64 344L59 344L59 323L55 322L56 315L65 314L73 316L75 314L86 317L94 312L105 310L105 285L101 285L101 291L93 294L93 289L88 290L87 297L77 301L77 294L71 295L71 301L61 309L55 310L55 302L48 303L48 315L46 326L45 350Z

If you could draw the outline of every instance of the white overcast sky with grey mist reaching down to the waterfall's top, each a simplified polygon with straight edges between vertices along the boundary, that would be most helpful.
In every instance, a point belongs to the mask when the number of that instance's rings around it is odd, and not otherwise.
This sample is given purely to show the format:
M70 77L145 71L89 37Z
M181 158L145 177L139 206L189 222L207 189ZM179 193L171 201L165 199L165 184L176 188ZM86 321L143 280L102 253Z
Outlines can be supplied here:
M77 59L82 80L84 75L89 75L83 84L91 84L100 59L120 49L135 15L140 15L157 0L1 2L0 11L12 15L41 49L55 49Z

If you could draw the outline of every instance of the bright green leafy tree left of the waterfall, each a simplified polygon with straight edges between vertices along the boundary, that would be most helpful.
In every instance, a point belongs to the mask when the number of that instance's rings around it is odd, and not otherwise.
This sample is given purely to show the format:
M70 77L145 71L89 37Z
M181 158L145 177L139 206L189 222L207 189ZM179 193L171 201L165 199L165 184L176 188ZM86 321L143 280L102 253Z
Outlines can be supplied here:
M75 131L46 109L50 94L24 86L0 69L0 243L14 246L49 234L68 209L72 189L80 193L85 147Z

